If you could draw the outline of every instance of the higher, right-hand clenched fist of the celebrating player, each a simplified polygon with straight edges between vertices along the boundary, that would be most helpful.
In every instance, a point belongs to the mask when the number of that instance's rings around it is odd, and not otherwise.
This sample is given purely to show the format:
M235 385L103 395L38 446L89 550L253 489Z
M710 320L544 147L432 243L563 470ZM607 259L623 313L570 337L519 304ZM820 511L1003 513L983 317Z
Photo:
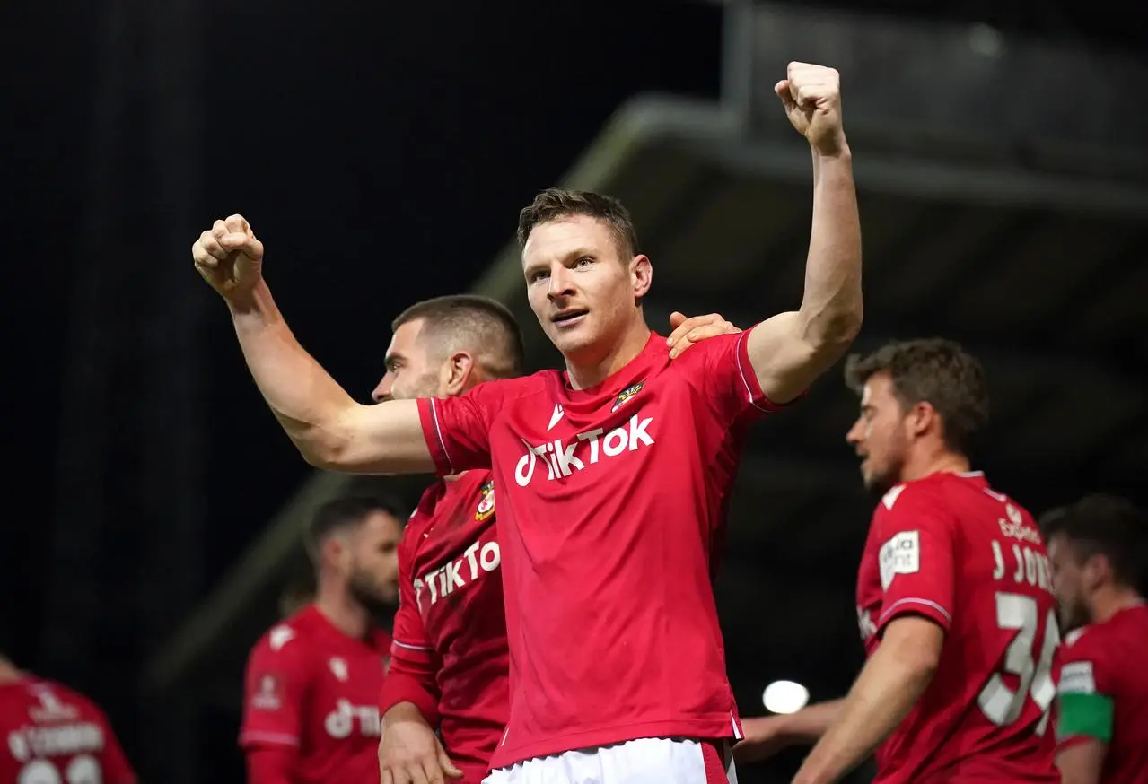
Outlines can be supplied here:
M845 146L841 130L841 79L832 68L790 63L785 78L774 85L793 127L824 155Z

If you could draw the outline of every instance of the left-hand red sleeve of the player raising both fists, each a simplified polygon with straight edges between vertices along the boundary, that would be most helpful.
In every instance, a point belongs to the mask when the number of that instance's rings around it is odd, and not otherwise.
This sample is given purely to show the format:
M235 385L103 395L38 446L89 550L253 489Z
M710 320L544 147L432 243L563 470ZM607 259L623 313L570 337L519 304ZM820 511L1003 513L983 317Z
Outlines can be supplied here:
M419 399L422 436L439 475L490 467L490 422L507 386L512 385L487 381L465 395Z

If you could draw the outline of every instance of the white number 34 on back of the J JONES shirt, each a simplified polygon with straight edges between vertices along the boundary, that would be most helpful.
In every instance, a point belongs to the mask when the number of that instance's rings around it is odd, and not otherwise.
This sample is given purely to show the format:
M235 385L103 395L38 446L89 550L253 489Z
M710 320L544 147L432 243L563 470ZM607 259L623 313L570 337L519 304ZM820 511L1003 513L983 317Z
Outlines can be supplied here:
M1037 733L1044 735L1048 725L1048 708L1056 696L1056 684L1053 683L1053 654L1061 643L1061 632L1056 626L1056 613L1048 611L1045 618L1045 642L1040 647L1040 658L1033 660L1033 647L1037 643L1037 628L1040 623L1037 600L1031 596L1019 593L996 595L996 626L1001 629L1015 629L1016 636L1004 651L1003 670L1016 675L1019 684L1016 691L1004 685L1000 673L993 673L988 683L977 696L977 703L988 721L998 727L1011 724L1024 709L1024 701L1032 701L1040 708L1042 715L1037 724Z

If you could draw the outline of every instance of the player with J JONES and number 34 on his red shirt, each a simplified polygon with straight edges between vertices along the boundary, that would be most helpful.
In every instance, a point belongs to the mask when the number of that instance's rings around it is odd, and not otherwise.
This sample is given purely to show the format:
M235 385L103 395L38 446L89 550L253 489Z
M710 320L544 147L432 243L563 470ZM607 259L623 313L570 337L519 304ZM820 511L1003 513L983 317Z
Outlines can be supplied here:
M881 784L1056 782L1050 566L1024 507L970 471L980 363L913 340L845 375L861 396L846 440L881 494L858 575L868 661L844 699L747 720L738 759L816 742L796 782L838 781L874 748Z

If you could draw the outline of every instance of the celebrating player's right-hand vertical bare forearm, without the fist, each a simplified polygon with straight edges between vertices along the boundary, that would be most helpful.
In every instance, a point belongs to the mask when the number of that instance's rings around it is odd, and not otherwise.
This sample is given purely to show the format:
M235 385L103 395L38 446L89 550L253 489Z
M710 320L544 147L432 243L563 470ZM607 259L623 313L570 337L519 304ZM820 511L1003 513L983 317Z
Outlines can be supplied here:
M812 346L845 347L861 328L861 223L853 158L813 153L813 228L800 315Z

